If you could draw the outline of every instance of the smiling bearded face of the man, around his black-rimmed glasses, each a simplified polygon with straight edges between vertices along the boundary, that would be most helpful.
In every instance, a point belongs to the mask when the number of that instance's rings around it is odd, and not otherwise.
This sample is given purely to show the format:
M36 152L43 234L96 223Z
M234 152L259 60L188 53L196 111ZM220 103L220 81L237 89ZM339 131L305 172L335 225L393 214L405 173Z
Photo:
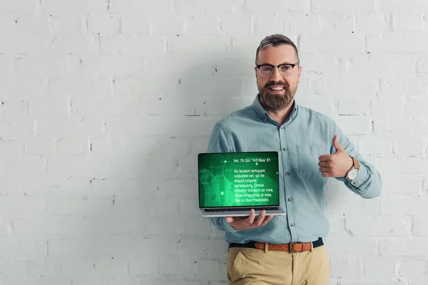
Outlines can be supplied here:
M299 61L297 53L290 45L270 46L258 53L258 62L260 64L271 64L278 66L283 63L295 64ZM259 70L255 68L255 77L260 98L265 106L270 110L282 110L292 102L297 85L300 82L301 66L292 68L289 74L282 75L278 68L274 68L270 77L260 76Z

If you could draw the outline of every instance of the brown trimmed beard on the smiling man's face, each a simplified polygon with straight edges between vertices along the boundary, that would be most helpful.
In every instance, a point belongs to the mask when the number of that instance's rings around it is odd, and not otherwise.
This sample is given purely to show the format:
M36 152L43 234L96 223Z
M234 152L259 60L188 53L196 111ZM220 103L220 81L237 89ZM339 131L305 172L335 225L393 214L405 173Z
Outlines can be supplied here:
M283 86L284 89L282 89L281 94L274 94L272 93L270 86ZM282 81L270 81L266 83L263 88L259 87L260 99L265 103L265 107L269 110L282 110L287 108L287 106L292 102L296 90L297 87L295 90L291 90L290 86Z

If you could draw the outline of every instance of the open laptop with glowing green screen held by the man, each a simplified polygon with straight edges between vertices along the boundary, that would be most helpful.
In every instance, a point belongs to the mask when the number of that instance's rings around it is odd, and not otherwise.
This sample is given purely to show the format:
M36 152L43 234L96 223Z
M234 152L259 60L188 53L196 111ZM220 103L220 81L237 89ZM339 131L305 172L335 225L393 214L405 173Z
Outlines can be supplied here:
M278 152L198 154L199 209L203 217L285 215L280 207Z

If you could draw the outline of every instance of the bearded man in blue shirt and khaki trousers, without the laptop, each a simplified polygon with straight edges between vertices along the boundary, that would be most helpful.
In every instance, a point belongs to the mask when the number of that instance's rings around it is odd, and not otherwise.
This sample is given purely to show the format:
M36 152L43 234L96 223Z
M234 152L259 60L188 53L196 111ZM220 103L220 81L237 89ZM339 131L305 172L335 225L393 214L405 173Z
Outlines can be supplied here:
M255 217L252 210L248 217L211 219L229 243L229 284L328 284L327 177L364 198L379 196L382 183L332 119L295 103L302 67L290 38L264 38L255 65L253 105L215 125L208 152L280 152L280 204L287 214Z

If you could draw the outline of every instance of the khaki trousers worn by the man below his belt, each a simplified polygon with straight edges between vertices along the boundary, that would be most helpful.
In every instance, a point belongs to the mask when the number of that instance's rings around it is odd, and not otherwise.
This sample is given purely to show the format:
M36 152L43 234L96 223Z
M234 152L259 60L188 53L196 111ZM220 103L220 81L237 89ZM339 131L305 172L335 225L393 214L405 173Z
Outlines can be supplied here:
M330 260L324 246L312 252L281 252L232 247L228 252L229 285L327 285Z

